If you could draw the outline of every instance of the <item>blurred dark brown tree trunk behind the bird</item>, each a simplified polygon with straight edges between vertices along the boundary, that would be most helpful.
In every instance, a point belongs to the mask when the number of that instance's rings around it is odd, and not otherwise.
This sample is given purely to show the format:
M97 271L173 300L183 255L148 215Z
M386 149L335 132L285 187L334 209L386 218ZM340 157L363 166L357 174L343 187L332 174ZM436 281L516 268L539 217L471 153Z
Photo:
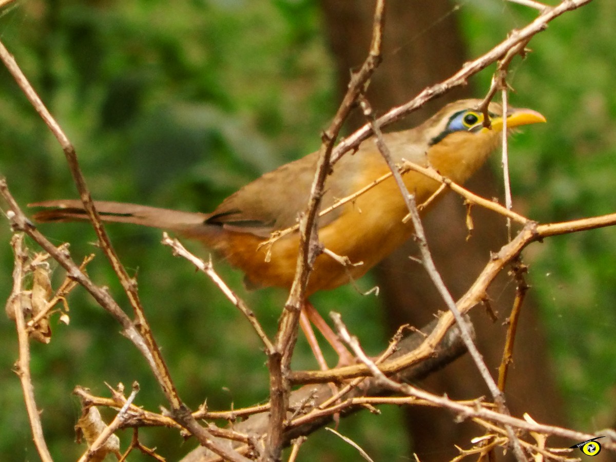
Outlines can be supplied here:
M365 58L374 2L323 0L322 7L342 92L346 89L349 70ZM466 60L452 4L446 0L387 2L383 58L368 91L368 99L379 113L406 102L423 87L452 75ZM413 113L403 125L413 126L448 100L469 94L468 87L456 89ZM357 114L351 124L357 126L363 122ZM485 197L498 195L500 190L489 168L482 169L468 187ZM467 290L487 262L490 251L500 248L506 237L500 217L475 208L472 212L475 230L466 241L464 214L461 199L449 195L424 220L432 255L455 298ZM420 327L428 323L437 310L445 309L423 267L408 258L416 254L415 245L408 243L376 269L384 318L392 332L403 323ZM505 338L503 321L508 317L513 292L514 283L507 277L502 277L490 290L492 307L498 312L495 323L482 307L474 309L472 314L479 349L495 376ZM455 399L488 395L468 355L432 375L421 386L437 394L447 392ZM514 414L520 415L527 410L540 421L564 423L543 331L530 299L522 312L506 391ZM407 408L405 417L413 451L422 462L450 460L457 453L454 444L468 447L469 439L481 432L471 423L456 424L453 416L442 410Z

